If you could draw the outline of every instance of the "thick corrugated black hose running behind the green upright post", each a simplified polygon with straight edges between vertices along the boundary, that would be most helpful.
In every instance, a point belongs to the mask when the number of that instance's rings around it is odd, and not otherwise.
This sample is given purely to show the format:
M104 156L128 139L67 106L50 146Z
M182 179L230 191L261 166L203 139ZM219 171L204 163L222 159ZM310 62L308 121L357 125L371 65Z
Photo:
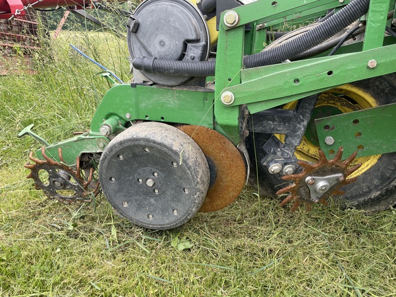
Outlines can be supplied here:
M276 47L263 50L258 54L245 56L245 68L260 67L281 63L326 41L342 29L362 17L369 10L370 0L353 0L342 10L322 21L315 28L285 41ZM215 61L186 62L152 57L133 60L133 67L153 74L172 76L214 76Z

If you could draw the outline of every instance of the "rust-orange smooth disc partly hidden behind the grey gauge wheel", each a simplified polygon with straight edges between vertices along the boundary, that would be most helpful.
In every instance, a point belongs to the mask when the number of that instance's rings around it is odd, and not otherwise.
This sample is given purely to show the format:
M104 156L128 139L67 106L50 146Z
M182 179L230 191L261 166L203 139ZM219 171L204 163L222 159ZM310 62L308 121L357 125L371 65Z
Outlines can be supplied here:
M204 126L178 127L197 142L208 159L210 187L199 212L213 212L230 205L245 184L245 163L238 148L225 136Z

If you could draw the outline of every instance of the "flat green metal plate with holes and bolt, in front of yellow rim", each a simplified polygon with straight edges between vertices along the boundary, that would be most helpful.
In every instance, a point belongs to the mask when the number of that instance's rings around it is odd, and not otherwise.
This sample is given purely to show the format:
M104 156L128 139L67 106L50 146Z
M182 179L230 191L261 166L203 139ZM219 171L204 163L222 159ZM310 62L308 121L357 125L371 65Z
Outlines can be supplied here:
M338 147L358 157L396 151L396 103L315 120L320 148L328 158Z

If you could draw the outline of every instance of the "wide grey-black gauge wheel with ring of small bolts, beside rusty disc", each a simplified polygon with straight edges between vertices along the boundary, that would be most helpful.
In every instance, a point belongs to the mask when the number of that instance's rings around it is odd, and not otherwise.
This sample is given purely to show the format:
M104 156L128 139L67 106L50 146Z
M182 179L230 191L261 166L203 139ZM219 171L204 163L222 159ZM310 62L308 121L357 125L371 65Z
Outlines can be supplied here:
M120 133L99 164L104 195L123 217L144 228L165 230L189 221L209 187L201 148L179 129L144 122Z

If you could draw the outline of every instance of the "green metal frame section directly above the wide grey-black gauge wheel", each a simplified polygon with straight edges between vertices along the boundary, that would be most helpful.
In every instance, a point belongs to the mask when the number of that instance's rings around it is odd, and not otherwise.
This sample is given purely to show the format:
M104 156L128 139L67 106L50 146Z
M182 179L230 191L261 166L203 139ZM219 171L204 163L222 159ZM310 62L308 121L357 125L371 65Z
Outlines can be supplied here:
M203 87L118 85L104 95L92 119L91 131L98 132L104 120L113 117L123 122L153 120L213 129L213 100L213 90Z

